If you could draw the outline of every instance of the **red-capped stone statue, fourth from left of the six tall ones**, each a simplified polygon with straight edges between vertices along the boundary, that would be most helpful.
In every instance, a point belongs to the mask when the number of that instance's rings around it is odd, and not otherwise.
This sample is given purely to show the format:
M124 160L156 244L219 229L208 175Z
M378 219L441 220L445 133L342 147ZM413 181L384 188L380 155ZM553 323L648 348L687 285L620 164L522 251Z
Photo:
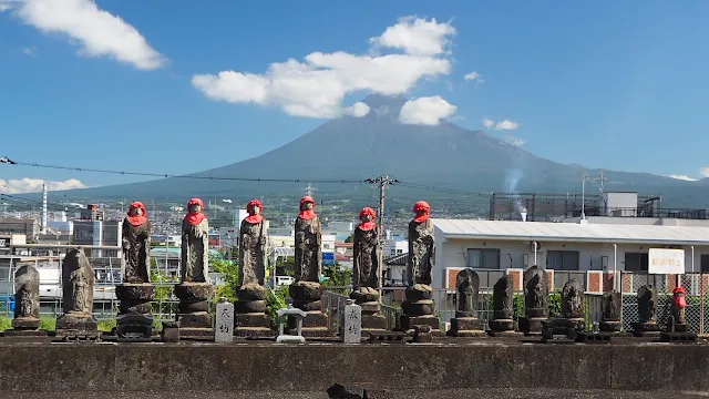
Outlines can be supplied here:
M296 282L320 282L322 236L320 219L314 209L315 201L310 196L304 196L295 225Z

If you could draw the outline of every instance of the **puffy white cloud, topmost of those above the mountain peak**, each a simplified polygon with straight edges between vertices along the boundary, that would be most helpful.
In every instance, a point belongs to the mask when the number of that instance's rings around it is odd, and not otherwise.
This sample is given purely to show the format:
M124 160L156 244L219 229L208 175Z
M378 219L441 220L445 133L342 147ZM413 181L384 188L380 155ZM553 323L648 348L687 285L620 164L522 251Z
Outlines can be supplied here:
M399 18L399 23L387 28L378 38L369 39L376 48L402 50L411 55L436 55L448 52L455 28L450 22L438 23L412 16Z

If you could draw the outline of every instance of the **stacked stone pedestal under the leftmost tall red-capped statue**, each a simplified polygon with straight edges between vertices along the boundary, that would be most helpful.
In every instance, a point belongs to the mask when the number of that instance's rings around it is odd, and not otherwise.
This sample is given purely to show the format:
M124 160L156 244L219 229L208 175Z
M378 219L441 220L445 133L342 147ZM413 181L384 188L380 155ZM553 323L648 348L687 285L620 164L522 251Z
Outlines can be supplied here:
M115 318L115 335L120 341L152 341L152 305L155 287L151 284L124 283L115 287L119 298L119 315Z

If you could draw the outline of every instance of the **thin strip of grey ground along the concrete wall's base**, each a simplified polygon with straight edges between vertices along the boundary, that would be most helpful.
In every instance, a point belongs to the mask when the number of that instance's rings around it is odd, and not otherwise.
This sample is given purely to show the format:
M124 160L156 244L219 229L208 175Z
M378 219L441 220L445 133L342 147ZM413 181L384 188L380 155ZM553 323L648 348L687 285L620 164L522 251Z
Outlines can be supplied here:
M326 392L52 392L19 393L0 392L0 398L34 399L47 397L72 399L328 399ZM427 391L392 391L380 399L706 399L709 392L662 392L662 391L623 391L623 390L566 390L566 389L449 389Z

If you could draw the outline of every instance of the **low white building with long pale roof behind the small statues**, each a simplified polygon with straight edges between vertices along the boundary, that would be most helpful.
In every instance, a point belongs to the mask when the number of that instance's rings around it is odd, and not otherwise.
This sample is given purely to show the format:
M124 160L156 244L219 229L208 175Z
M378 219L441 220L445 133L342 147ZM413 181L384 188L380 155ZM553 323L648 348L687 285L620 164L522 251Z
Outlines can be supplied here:
M477 269L481 287L492 287L504 274L521 278L522 270L540 265L553 276L549 288L578 278L588 291L600 293L616 285L616 272L636 273L638 279L643 274L647 282L650 248L684 249L686 272L709 273L707 221L681 221L703 222L697 227L619 218L626 224L616 224L615 217L580 223L433 219L433 288L454 289L455 276L465 267ZM515 288L522 289L520 278L514 278ZM618 284L623 291L634 291L638 282L624 277Z

